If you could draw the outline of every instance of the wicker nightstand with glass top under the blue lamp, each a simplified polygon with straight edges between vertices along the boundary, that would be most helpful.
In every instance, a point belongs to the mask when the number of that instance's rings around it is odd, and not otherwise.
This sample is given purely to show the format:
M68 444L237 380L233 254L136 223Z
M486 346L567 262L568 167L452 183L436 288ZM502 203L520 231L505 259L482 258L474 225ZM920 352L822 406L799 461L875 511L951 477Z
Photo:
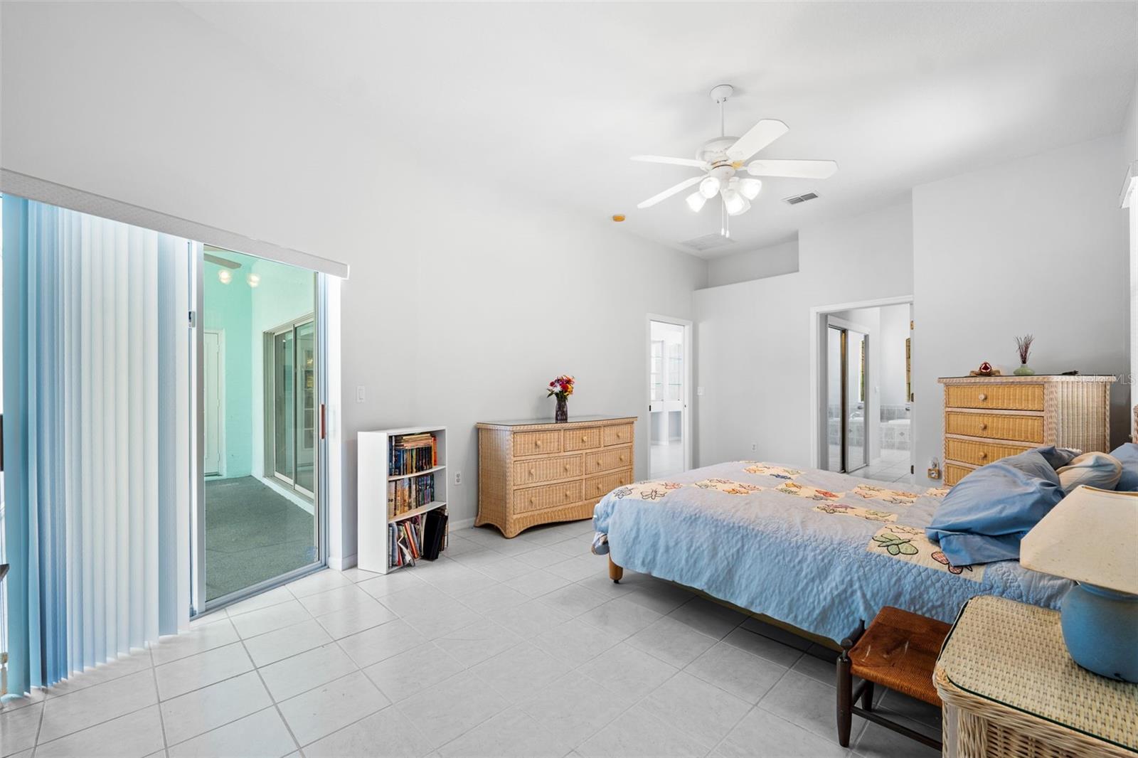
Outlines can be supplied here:
M945 703L945 755L1052 758L1138 753L1138 684L1080 668L1058 611L970 600L933 675Z

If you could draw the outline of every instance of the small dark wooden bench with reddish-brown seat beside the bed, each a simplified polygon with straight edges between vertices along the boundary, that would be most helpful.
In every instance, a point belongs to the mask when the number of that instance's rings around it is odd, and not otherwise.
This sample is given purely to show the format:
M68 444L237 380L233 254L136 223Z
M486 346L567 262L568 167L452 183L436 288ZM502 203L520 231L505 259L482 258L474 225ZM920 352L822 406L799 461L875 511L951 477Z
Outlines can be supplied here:
M930 736L891 722L873 710L873 687L896 690L930 705L941 706L932 682L937 656L951 628L943 621L885 607L866 629L864 623L842 640L838 657L838 742L848 748L853 714L885 728L941 749ZM853 677L861 683L853 687ZM855 702L860 700L860 707Z

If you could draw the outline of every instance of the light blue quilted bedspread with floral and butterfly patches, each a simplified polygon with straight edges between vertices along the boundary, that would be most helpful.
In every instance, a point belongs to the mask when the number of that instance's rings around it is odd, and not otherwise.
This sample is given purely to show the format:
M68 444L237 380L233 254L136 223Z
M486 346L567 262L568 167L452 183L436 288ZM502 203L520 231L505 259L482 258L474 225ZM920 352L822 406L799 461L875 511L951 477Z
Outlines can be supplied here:
M946 491L736 461L596 504L625 568L839 641L883 605L953 621L973 595L1056 608L1071 583L1019 561L950 567L924 527Z

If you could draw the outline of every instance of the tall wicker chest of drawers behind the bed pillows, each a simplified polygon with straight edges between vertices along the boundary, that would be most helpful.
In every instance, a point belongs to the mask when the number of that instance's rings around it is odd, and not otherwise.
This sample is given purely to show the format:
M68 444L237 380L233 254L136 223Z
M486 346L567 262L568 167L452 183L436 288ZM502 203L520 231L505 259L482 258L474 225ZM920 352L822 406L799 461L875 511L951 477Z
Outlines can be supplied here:
M942 377L945 484L1040 445L1110 451L1105 376Z

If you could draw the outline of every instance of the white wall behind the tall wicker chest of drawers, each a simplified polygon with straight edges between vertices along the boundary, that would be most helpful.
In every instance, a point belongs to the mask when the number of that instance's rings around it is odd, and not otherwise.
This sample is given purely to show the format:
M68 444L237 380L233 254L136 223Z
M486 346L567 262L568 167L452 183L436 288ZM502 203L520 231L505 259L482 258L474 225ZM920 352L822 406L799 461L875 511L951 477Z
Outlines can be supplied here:
M1030 363L1040 373L1128 372L1119 141L1083 142L914 188L918 472L941 458L937 377L966 374L982 361L1015 369L1017 335L1036 336ZM1128 395L1115 386L1115 440L1128 428Z

